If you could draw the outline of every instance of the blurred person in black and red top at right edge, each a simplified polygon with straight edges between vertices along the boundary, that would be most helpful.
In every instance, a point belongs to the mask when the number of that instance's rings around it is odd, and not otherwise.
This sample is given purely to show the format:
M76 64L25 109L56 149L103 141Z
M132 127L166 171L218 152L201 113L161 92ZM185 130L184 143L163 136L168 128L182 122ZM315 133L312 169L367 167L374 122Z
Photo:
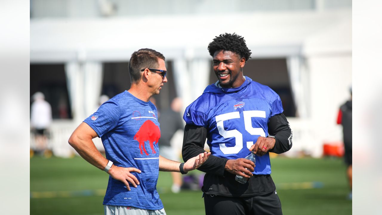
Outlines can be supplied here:
M350 99L341 105L338 111L337 124L342 125L343 144L345 146L345 163L347 166L346 175L348 176L350 193L349 199L352 199L352 88L350 87Z

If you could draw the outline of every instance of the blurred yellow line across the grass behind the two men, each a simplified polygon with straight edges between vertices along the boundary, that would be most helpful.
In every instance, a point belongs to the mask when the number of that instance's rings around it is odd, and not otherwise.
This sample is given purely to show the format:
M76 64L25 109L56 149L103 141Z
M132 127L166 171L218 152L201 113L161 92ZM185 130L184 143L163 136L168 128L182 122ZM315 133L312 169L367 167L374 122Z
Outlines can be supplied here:
M317 189L317 188L322 188L323 186L324 184L322 182L317 182L317 181L276 184L276 188L278 190ZM82 191L33 191L31 192L30 198L42 199L42 198L78 197L78 196L104 196L105 193L106 193L106 189L82 190Z

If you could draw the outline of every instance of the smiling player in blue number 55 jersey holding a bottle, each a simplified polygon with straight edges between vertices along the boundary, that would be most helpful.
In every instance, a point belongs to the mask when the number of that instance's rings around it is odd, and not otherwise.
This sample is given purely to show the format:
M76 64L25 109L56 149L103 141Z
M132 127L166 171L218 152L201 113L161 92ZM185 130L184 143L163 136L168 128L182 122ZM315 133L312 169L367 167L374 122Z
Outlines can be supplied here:
M243 75L251 52L243 37L220 34L208 46L218 79L185 111L182 155L187 160L212 152L199 170L206 172L202 191L207 215L282 214L270 176L269 152L292 147L292 132L280 97L268 86ZM256 165L244 159L256 153ZM241 184L235 175L249 178Z

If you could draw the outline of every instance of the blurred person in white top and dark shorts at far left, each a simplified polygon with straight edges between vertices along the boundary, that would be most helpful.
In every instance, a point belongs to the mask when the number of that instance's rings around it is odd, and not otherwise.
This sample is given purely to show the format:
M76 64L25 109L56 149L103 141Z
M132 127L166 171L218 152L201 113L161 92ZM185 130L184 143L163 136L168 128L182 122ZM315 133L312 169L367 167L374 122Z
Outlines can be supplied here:
M52 152L48 148L47 134L52 123L52 107L45 101L45 96L41 92L36 92L32 98L31 129L34 133L36 144L34 151L31 151L31 155L37 153L50 157Z

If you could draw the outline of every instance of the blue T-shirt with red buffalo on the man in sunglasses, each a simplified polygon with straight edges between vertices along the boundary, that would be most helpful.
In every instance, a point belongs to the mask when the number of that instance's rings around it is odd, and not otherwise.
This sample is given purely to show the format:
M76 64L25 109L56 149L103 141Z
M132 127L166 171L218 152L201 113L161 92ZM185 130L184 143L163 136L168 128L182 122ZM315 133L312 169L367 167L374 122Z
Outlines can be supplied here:
M128 91L102 104L84 120L97 132L105 147L106 158L120 167L134 167L139 180L131 191L109 176L104 205L132 206L146 210L163 208L156 190L159 175L160 130L157 109Z

